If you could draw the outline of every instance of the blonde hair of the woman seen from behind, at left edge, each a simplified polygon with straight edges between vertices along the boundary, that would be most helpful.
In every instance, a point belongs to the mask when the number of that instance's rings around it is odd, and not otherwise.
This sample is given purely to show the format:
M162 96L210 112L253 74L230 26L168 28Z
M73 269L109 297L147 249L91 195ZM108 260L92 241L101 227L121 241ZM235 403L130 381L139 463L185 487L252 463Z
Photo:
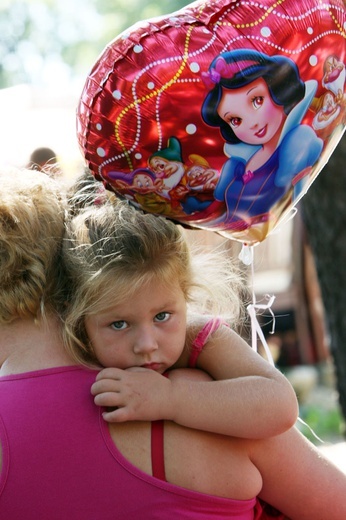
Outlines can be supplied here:
M44 173L15 168L0 172L0 185L0 323L39 319L63 300L63 189Z

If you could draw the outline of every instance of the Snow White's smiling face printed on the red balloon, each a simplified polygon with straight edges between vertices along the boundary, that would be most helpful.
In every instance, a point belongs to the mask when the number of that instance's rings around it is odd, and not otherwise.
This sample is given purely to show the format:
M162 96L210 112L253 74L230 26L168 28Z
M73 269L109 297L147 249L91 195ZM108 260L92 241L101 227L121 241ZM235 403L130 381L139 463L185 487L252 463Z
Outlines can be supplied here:
M217 112L238 139L252 145L278 138L286 119L284 107L273 102L262 78L236 90L223 89Z

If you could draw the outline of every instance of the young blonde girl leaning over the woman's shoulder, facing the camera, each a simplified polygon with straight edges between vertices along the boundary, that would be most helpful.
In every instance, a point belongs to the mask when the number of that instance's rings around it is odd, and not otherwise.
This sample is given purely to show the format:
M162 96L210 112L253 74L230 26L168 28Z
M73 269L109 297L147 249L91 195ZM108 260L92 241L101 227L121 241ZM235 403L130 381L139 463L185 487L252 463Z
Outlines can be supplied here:
M294 424L289 382L224 325L240 285L227 258L192 256L177 225L119 201L72 219L64 263L65 342L79 363L106 367L92 392L113 408L107 421L171 419L243 438ZM162 377L187 366L219 381Z

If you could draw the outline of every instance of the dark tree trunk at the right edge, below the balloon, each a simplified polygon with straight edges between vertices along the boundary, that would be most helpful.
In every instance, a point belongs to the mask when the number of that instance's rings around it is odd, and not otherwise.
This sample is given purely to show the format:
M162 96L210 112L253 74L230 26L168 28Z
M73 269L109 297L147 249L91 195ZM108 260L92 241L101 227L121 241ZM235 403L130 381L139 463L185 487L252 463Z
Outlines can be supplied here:
M346 420L346 139L300 202L325 307L341 412Z

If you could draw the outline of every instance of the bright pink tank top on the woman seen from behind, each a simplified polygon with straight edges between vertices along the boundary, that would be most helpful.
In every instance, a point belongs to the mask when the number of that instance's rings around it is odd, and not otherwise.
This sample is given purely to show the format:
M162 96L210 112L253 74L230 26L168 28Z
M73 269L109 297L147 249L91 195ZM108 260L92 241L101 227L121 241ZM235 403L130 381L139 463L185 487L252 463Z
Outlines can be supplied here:
M96 373L60 367L0 378L0 518L254 520L229 500L143 473L114 445L93 402Z

